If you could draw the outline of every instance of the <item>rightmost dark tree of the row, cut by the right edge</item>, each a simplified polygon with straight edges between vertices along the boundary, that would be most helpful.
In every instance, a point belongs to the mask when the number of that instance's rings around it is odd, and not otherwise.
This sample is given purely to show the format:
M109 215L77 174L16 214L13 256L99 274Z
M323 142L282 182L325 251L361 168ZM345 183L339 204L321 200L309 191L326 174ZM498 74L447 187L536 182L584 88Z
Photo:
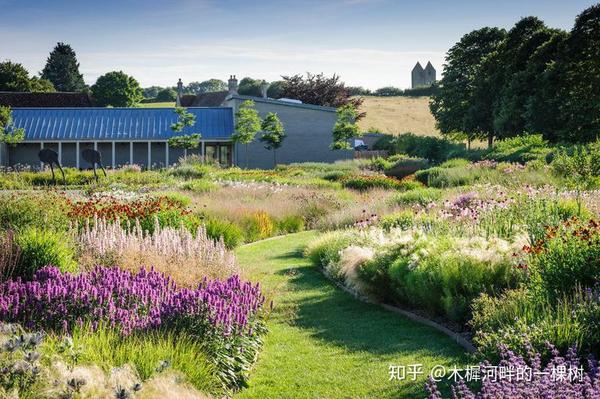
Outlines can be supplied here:
M600 4L577 16L565 47L558 133L565 141L594 141L600 137Z

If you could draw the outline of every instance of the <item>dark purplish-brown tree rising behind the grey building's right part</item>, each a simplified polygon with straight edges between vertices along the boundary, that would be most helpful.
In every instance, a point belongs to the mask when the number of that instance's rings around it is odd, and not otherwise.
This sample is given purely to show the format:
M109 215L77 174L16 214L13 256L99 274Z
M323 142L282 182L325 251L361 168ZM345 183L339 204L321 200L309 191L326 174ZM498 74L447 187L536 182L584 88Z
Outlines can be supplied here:
M337 75L326 77L322 73L318 75L307 73L306 78L302 75L282 76L282 78L284 83L281 97L334 108L351 104L355 109L359 109L363 103L362 98L350 95ZM363 116L365 113L359 113L357 118L360 119Z

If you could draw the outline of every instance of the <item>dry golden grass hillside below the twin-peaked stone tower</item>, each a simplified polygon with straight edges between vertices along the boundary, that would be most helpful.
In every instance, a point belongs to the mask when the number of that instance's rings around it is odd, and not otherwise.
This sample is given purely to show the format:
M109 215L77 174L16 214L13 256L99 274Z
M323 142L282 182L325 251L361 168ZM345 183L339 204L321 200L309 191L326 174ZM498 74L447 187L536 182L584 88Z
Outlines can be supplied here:
M435 120L429 112L429 97L364 97L361 111L367 116L359 125L366 131L377 128L384 133L412 132L435 136Z

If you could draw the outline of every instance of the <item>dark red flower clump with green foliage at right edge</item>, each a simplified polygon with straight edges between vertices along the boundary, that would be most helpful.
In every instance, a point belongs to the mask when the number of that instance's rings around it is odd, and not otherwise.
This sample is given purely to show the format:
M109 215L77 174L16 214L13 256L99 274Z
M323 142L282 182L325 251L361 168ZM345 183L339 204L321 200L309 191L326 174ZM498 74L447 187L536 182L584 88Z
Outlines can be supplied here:
M600 223L594 220L547 227L545 237L527 249L533 284L552 298L600 284Z

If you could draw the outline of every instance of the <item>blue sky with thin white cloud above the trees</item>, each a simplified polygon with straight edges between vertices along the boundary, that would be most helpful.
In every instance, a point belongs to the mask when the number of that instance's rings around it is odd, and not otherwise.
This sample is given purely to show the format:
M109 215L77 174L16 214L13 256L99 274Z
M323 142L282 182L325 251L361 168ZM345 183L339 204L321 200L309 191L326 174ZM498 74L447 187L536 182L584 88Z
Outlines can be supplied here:
M410 86L461 36L535 15L570 29L583 0L0 0L0 61L39 73L57 42L86 83L122 70L143 87L250 76L338 74L347 85Z

